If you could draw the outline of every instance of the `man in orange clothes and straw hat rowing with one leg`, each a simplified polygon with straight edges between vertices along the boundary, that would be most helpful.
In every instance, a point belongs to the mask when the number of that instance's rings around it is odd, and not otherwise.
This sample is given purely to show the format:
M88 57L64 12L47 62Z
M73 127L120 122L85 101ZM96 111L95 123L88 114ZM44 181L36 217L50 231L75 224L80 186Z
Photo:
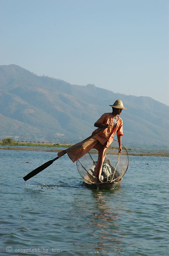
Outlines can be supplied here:
M93 135L91 138L86 139L82 142L79 142L70 148L67 148L63 151L58 152L58 157L63 156L67 153L70 159L75 162L85 154L87 154L92 148L98 150L98 161L93 173L93 176L98 177L98 180L101 181L102 173L102 164L104 162L106 151L109 145L113 141L114 134L117 132L117 138L119 143L119 153L122 151L122 136L123 136L123 121L118 116L121 114L124 108L123 102L121 100L116 100L112 107L111 113L104 113L94 124L95 127L98 127L92 134L97 131L105 128L101 132Z

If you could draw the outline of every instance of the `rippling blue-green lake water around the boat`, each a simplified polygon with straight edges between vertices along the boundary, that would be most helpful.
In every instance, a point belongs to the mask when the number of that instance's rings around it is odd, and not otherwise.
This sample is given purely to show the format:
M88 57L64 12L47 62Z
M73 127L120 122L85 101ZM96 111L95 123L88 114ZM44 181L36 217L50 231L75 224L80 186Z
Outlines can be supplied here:
M167 157L129 156L112 191L87 188L67 155L22 179L56 156L0 150L0 255L168 255Z

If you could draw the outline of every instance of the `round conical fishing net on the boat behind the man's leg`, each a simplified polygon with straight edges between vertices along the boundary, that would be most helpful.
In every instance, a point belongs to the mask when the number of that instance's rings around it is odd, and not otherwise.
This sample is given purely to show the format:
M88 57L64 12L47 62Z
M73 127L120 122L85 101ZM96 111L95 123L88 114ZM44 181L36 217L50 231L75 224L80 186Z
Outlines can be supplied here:
M76 165L84 182L97 183L92 176L97 164L98 151L92 149L88 154L77 160ZM101 181L104 183L118 182L124 176L128 168L127 149L122 145L122 153L119 154L119 144L115 139L111 147L107 149L106 157L102 166Z

